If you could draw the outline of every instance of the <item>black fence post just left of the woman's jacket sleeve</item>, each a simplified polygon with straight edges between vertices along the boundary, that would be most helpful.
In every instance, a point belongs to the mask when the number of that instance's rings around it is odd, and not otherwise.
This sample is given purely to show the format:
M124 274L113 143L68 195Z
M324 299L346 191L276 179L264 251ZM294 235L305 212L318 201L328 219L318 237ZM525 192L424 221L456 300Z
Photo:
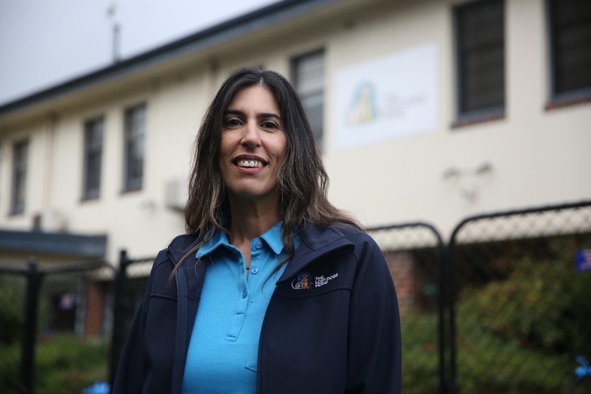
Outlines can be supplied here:
M125 319L128 311L128 275L127 269L131 260L128 253L122 249L119 253L119 269L115 269L115 299L113 314L113 329L111 337L110 386L113 386L119 358L125 345Z

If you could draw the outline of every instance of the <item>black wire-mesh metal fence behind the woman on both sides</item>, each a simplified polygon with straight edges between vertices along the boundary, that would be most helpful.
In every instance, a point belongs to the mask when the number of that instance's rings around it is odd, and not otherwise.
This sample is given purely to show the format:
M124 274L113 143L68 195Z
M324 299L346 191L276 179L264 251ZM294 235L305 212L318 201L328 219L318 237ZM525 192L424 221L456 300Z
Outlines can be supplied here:
M470 217L447 245L428 223L369 232L398 292L405 394L590 392L574 371L591 356L591 201ZM0 394L112 382L152 260L0 266Z

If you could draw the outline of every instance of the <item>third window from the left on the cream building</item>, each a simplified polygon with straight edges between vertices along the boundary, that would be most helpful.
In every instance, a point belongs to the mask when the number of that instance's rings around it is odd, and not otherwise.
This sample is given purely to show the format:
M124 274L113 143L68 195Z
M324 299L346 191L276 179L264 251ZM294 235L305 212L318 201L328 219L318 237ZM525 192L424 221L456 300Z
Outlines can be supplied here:
M143 184L145 105L125 110L125 158L123 190L137 190Z

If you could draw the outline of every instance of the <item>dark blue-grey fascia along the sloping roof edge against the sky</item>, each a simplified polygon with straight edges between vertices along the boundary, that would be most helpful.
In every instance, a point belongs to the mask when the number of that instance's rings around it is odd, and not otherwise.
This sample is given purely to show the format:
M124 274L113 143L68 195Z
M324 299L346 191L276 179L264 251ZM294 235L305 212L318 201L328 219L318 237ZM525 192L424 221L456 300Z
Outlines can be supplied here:
M138 56L114 63L104 69L82 75L67 82L58 84L38 93L34 93L22 99L17 99L0 106L0 119L21 110L32 108L46 103L58 97L64 97L79 90L95 86L112 79L130 75L136 71L147 69L173 58L189 55L203 51L224 42L241 38L245 35L261 31L273 25L289 21L298 16L311 14L324 8L330 3L337 3L339 0L283 0L273 3L265 8L244 14L224 23L209 27L200 32L186 36L167 45L158 47L151 51L141 53Z

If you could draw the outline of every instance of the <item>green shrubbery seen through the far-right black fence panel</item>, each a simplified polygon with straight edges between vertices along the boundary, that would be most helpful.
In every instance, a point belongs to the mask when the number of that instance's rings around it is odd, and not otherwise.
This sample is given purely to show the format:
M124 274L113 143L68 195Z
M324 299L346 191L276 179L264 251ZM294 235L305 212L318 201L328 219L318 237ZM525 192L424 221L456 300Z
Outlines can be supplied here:
M575 271L575 252L589 241L556 238L541 254L507 248L490 267L502 271L503 280L463 288L457 302L461 392L561 393L572 382L575 356L591 354L591 278Z

